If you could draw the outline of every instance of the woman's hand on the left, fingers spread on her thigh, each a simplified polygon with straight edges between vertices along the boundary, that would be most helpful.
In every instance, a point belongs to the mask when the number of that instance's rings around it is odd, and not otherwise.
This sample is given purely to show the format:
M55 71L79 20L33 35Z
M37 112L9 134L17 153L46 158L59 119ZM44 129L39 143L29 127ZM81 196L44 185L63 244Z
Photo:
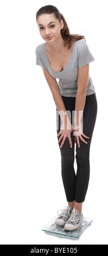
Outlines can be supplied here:
M67 128L69 128L69 129L67 129ZM61 135L60 138L59 138L58 144L60 143L61 139L63 138L62 142L61 142L61 145L60 145L60 148L62 148L63 144L65 143L65 139L67 137L68 137L68 140L69 140L70 147L72 148L72 139L71 139L71 132L72 131L74 131L74 129L73 129L73 126L72 126L71 123L67 123L67 127L64 123L62 123L60 132L57 135L57 137L59 137Z

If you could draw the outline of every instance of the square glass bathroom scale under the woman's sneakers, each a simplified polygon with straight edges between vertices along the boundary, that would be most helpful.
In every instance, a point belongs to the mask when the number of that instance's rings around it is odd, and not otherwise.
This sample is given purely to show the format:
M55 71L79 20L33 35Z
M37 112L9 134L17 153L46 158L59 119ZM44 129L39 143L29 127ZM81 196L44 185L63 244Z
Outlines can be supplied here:
M79 228L74 229L72 231L67 231L64 229L64 225L56 225L55 220L58 218L58 215L56 215L49 223L45 225L45 227L42 228L42 231L45 231L48 235L55 235L58 237L63 237L67 239L73 239L78 240L80 235L85 231L85 229L91 225L92 219L91 218L83 218Z

